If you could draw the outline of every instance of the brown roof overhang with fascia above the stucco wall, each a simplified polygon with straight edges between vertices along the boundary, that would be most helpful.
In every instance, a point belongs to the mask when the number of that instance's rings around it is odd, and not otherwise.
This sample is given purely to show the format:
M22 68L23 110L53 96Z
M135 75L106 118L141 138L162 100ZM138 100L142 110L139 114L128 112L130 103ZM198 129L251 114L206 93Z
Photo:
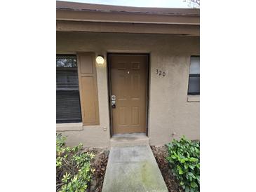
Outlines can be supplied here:
M200 10L137 8L57 1L57 31L199 36Z

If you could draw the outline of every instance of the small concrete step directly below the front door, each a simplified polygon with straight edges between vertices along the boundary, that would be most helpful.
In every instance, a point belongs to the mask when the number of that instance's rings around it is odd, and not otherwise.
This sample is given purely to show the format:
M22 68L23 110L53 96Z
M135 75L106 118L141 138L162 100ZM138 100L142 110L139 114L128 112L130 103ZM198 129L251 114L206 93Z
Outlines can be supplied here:
M149 145L149 137L144 133L117 134L110 139L110 146Z

